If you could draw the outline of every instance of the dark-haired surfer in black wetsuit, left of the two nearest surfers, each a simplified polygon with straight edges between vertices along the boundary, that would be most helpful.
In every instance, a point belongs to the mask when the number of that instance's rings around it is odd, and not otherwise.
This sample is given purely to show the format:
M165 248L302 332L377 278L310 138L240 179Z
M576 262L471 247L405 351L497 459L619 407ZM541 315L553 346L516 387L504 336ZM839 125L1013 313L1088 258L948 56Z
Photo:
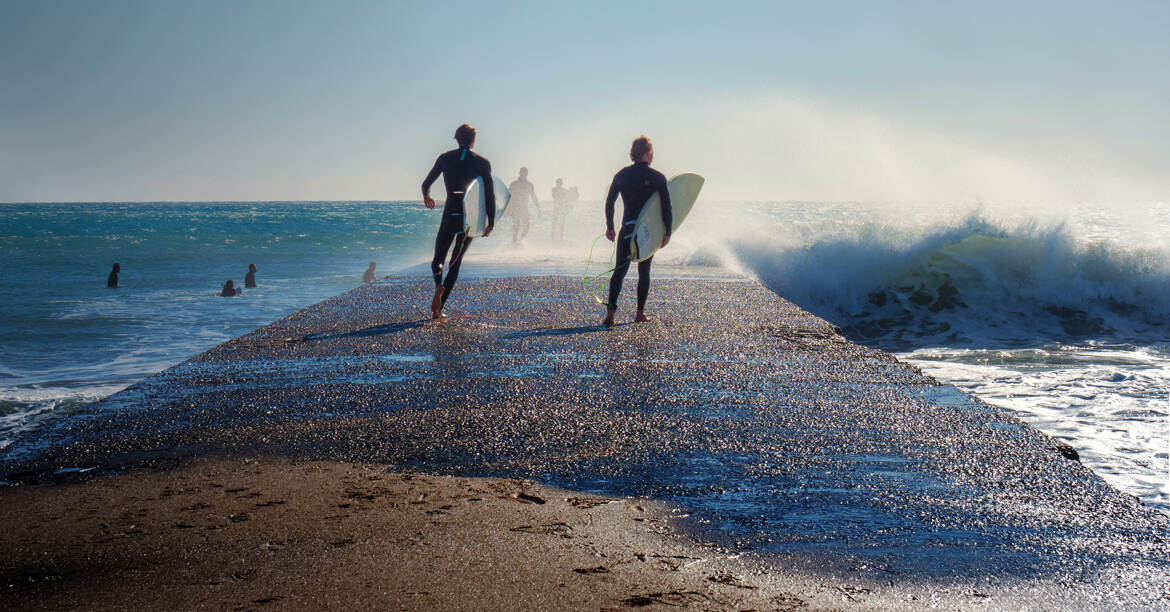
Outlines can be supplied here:
M431 274L435 279L435 296L431 301L431 318L442 318L442 307L450 296L450 290L459 279L459 264L463 261L467 247L472 245L472 239L463 233L467 224L463 219L463 192L476 177L483 178L483 193L487 202L488 226L483 229L483 236L491 234L496 224L496 193L491 183L491 163L487 158L472 152L475 145L475 128L468 124L460 125L455 130L455 142L459 149L447 151L435 159L434 167L422 181L422 202L427 208L435 207L435 200L431 197L431 185L442 174L443 185L447 187L447 202L442 208L442 221L439 224L439 235L435 238L435 256L431 260ZM443 279L443 261L447 252L455 243L452 250L450 263L447 266L447 277Z

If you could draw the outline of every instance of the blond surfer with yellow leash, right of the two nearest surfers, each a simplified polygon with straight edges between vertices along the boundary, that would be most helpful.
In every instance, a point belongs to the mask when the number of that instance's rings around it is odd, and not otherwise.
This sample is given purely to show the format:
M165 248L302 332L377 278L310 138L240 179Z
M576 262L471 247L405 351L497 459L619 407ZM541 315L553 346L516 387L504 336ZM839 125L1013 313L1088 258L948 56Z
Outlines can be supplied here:
M661 172L651 169L654 161L654 144L645 136L634 139L629 147L629 159L633 165L621 169L610 185L610 193L605 197L605 238L613 242L618 234L613 231L613 204L621 194L621 234L618 238L618 267L613 269L610 277L610 301L606 303L606 325L613 325L613 315L618 310L618 295L621 294L621 282L629 270L629 239L634 235L634 224L638 222L638 214L642 212L646 200L649 200L654 192L662 197L662 224L666 226L666 235L662 236L662 246L670 242L670 193L666 187L666 177ZM638 315L634 321L642 323L649 321L646 316L646 296L651 293L651 261L638 262Z

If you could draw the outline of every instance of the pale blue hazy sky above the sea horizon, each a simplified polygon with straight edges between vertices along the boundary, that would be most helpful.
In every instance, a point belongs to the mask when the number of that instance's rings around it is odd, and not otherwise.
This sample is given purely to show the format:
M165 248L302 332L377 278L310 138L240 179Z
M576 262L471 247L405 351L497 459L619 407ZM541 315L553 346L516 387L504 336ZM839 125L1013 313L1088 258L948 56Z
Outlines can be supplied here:
M0 201L1170 199L1170 2L0 0Z

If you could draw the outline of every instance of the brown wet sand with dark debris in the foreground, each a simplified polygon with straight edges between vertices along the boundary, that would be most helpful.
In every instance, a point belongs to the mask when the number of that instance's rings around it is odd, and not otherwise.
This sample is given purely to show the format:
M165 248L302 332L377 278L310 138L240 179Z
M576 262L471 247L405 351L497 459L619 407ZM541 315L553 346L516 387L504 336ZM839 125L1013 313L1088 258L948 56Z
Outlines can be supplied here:
M0 490L5 610L832 606L672 535L662 504L515 479L204 459ZM799 594L782 587L801 590Z

